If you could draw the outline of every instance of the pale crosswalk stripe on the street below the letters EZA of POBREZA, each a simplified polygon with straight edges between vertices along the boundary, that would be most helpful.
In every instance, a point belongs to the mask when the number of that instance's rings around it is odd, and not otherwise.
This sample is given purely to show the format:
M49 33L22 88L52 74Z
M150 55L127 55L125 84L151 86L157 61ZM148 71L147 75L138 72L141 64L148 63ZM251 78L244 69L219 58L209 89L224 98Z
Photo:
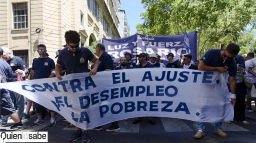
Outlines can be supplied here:
M182 119L160 118L166 132L193 131Z

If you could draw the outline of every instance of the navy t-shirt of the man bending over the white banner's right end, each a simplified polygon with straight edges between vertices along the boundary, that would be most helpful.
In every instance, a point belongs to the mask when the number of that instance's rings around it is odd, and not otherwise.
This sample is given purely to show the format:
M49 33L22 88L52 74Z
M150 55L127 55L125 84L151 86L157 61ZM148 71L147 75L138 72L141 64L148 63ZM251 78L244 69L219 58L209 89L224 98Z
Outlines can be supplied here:
M226 60L225 62L222 60L222 57L220 55L220 49L211 49L207 51L200 59L204 62L205 65L211 66L211 67L228 67L228 74L229 76L236 76L236 62L234 59ZM224 63L223 63L224 62Z

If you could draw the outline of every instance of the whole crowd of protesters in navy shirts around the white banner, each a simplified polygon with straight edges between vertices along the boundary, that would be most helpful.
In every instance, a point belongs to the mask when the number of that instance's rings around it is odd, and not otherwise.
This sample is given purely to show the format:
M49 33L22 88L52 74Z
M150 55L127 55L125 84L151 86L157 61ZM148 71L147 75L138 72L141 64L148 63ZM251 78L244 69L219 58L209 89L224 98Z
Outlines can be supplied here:
M37 52L39 57L33 60L32 68L28 69L25 62L20 58L12 55L10 49L7 47L1 48L1 83L14 82L25 80L26 75L29 80L40 78L56 77L62 80L65 74L89 72L91 76L96 72L122 70L122 69L136 69L136 68L181 68L203 71L218 71L228 72L229 81L228 86L230 90L231 104L234 106L234 119L240 121L244 125L250 123L245 120L245 111L253 112L251 107L252 99L246 96L246 86L244 84L243 76L248 77L254 86L256 86L256 58L254 53L248 53L242 57L238 55L240 47L236 44L229 44L225 49L212 49L205 53L202 59L192 62L192 55L182 55L180 53L179 59L174 60L174 53L168 53L166 59L168 64L164 64L160 59L160 55L155 53L147 54L140 53L136 55L138 64L131 61L132 54L125 53L120 61L113 61L111 55L105 51L102 43L98 43L95 47L96 57L88 48L80 46L80 35L76 31L67 31L65 33L66 45L62 50L56 51L57 63L49 57L46 50L46 45L39 44ZM88 65L88 61L93 65ZM194 64L193 64L194 63ZM24 111L24 103L26 101L26 111ZM11 129L26 129L28 126L22 123L22 119L30 118L30 108L35 107L37 119L30 127L42 125L46 120L46 113L50 115L50 125L56 125L56 112L48 110L44 106L32 102L29 99L24 101L24 96L16 92L1 89L1 127L7 125L8 117L14 120ZM255 99L254 99L255 102ZM246 104L245 104L246 103ZM18 110L16 112L16 110ZM24 114L25 112L25 114ZM148 117L149 123L154 125L156 120L154 117ZM66 119L62 118L63 121ZM140 118L134 118L133 123L140 123ZM225 121L230 123L230 121ZM64 123L69 128L75 127L68 121ZM222 122L215 123L214 133L221 137L227 137L221 129ZM204 137L204 123L198 123L198 131L194 137L200 139ZM101 131L102 127L96 127L92 130ZM110 127L105 131L118 131L120 127L118 121L112 122ZM76 130L71 135L69 141L74 142L82 138L83 143L90 141L88 131L76 127Z

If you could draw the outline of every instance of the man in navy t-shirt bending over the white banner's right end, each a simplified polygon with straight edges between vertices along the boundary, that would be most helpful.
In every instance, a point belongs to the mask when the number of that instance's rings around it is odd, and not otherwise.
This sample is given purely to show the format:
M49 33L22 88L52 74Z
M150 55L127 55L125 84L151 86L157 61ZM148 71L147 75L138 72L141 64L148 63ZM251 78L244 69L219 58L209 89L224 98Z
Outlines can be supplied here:
M205 53L198 66L198 69L202 71L228 72L231 90L230 98L233 106L236 103L236 62L234 57L239 51L240 47L234 43L229 44L225 50L211 49ZM222 122L215 123L214 133L220 137L227 137L228 135L222 131L221 126ZM204 137L204 129L204 123L198 123L198 131L194 137L196 139Z

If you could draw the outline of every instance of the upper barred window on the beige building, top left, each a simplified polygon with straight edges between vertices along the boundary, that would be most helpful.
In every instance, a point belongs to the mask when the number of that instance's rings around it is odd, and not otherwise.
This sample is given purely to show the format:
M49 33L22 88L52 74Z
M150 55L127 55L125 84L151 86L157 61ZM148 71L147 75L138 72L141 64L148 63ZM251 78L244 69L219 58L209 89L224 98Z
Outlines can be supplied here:
M28 4L12 4L14 29L28 28Z

